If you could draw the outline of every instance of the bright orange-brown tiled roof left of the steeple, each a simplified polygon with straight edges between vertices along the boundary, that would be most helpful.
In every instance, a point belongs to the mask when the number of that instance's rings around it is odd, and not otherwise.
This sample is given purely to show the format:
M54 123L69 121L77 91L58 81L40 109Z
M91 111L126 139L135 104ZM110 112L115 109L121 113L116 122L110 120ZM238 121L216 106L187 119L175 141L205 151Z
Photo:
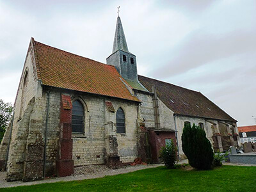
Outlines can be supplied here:
M33 38L32 42L36 72L42 84L140 102L127 90L115 67L36 42Z

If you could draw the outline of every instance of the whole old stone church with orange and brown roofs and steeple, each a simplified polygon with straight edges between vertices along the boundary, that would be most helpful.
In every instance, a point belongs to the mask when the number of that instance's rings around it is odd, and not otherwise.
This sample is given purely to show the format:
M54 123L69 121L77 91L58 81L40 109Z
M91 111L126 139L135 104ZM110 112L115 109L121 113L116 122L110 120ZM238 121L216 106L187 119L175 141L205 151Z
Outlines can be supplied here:
M170 140L183 159L185 122L200 125L214 151L240 145L237 121L202 93L137 74L120 17L106 64L31 38L0 170L28 181L86 164L159 163Z

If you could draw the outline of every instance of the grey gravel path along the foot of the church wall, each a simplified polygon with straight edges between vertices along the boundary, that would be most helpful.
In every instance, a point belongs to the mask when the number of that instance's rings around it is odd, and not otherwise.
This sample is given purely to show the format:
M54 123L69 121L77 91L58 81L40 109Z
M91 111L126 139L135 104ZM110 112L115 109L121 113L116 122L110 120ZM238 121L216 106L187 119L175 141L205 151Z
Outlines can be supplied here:
M124 166L122 168L112 170L106 165L88 165L80 166L75 168L74 174L68 177L53 177L44 180L36 180L33 182L22 182L13 181L6 182L6 172L0 172L0 188L11 188L15 186L31 186L35 184L50 183L50 182L60 182L60 181L70 181L70 180L84 180L84 179L95 179L104 177L106 175L118 175L122 173L135 172L137 170L143 170L147 168L155 168L157 166L163 166L163 164L138 164L136 166Z

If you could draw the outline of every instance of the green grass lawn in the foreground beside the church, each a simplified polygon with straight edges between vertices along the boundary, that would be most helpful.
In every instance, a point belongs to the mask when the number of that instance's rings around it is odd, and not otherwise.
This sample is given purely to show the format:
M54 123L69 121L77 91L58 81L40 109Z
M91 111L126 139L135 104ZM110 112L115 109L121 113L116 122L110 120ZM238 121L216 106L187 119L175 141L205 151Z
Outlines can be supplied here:
M256 191L256 167L222 166L209 171L161 166L100 179L5 188L0 191Z

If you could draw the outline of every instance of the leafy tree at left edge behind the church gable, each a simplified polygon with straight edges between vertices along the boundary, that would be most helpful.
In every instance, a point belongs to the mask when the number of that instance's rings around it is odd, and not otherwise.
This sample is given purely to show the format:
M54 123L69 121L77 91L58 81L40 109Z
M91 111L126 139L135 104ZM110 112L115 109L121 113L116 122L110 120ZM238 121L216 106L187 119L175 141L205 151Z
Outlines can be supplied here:
M3 139L5 129L12 116L13 107L9 102L4 102L0 99L0 142Z

